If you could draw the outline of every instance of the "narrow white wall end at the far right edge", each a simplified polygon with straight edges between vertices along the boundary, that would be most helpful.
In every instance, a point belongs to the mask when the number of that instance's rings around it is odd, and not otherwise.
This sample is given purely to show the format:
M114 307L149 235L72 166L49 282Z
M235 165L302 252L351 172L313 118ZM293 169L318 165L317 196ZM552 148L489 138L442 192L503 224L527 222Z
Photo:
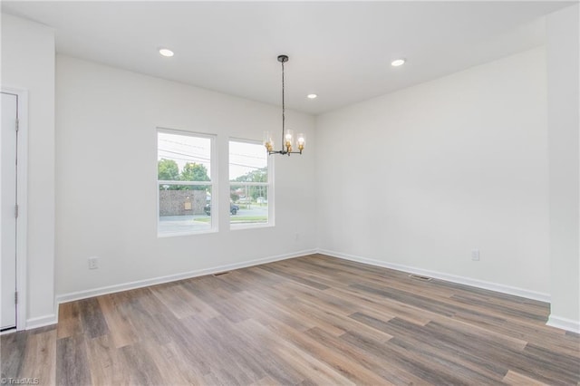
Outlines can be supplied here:
M547 17L550 165L550 324L580 333L578 20L580 6Z

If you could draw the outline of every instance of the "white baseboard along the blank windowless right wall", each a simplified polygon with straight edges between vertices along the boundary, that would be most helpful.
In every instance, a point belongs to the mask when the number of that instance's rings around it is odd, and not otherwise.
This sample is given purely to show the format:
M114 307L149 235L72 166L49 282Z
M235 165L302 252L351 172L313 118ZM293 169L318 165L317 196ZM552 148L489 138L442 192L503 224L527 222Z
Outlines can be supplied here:
M539 293L539 292L535 292L535 291L529 291L527 289L512 287L509 285L500 285L498 283L486 282L483 280L472 279L470 277L465 277L465 276L449 275L449 274L445 274L442 272L430 271L428 269L416 268L414 266L409 266L409 265L392 264L392 263L387 263L387 262L384 262L381 260L374 260L374 259L361 257L361 256L346 255L346 254L343 254L340 252L334 252L334 251L329 251L329 250L325 250L325 249L319 249L318 253L323 254L323 255L343 258L344 260L355 261L357 263L382 266L384 268L390 268L390 269L394 269L396 271L408 272L410 274L429 276L429 277L433 277L436 279L445 280L445 281L452 282L452 283L457 283L459 285L470 285L470 286L477 287L477 288L482 288L482 289L487 289L490 291L500 292L502 294L513 294L516 296L525 297L527 299L533 299L533 300L537 300L540 302L546 302L546 303L550 302L550 295L549 294Z

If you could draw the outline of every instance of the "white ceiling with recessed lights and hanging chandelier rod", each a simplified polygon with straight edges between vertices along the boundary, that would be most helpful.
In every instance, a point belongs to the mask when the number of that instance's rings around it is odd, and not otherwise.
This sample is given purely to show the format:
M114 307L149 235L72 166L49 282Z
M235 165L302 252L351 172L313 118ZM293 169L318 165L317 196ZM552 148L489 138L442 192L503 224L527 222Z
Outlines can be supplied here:
M318 114L542 44L543 15L570 4L2 1L2 12L54 27L58 53L275 105L285 53L286 107ZM398 57L408 62L391 67Z

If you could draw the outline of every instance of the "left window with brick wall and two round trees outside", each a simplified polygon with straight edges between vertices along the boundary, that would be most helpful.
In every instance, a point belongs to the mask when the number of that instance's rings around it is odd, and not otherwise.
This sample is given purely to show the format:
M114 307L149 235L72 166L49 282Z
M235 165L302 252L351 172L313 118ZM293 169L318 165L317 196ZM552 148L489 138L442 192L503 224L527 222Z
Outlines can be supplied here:
M182 131L158 130L157 183L160 236L214 230L211 197L214 138Z

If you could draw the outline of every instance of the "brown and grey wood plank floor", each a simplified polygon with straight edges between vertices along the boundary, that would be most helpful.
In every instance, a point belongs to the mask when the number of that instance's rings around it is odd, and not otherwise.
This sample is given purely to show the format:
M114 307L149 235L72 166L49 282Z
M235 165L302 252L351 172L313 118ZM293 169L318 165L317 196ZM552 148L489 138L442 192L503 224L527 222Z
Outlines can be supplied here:
M580 384L548 304L313 255L61 304L1 337L41 384Z

